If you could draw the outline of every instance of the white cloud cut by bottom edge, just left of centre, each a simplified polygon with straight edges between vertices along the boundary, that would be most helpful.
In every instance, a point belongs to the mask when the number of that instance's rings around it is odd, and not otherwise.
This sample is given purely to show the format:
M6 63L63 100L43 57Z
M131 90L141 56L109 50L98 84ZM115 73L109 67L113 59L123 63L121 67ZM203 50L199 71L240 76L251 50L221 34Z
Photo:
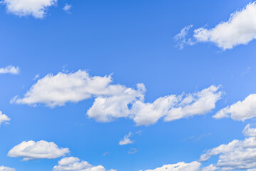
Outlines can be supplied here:
M106 169L101 165L93 166L77 157L66 157L58 161L58 165L53 167L53 171L106 171Z

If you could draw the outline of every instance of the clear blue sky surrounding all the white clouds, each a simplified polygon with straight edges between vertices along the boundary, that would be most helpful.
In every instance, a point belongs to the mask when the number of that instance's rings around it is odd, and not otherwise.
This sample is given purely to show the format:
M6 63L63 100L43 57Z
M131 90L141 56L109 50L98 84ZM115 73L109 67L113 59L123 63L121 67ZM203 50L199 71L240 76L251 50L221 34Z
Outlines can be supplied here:
M0 165L17 171L52 170L59 159L21 162L6 157L22 141L46 140L68 147L71 156L92 165L118 171L137 171L180 161L198 160L204 150L234 139L243 139L245 123L215 120L220 108L256 93L256 41L222 51L213 44L185 46L180 51L173 40L184 26L211 28L227 21L230 14L250 1L240 0L87 0L59 1L44 19L20 18L0 9L0 67L21 68L17 76L0 75L0 109L11 124L0 128ZM63 6L72 5L71 14ZM133 87L144 83L145 101L169 94L193 93L211 85L225 91L215 110L195 116L137 127L132 120L96 123L86 111L93 100L68 103L63 107L11 104L48 73L83 69L91 76L113 73L114 83ZM245 72L250 67L249 72ZM135 143L118 141L132 131ZM210 135L209 135L210 134ZM130 147L138 149L128 154ZM108 152L107 155L103 153ZM217 160L213 157L208 165Z

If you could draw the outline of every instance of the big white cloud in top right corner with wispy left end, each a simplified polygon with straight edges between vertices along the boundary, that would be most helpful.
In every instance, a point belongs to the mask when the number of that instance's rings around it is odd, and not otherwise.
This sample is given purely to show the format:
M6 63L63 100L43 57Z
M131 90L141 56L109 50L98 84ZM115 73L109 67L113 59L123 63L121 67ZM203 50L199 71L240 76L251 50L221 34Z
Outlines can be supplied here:
M197 28L193 38L188 40L185 36L192 27L186 26L175 36L178 46L183 48L185 44L193 45L200 42L215 43L223 50L234 48L237 45L245 45L256 38L256 1L247 4L244 9L237 10L230 15L230 19L221 22L213 28Z

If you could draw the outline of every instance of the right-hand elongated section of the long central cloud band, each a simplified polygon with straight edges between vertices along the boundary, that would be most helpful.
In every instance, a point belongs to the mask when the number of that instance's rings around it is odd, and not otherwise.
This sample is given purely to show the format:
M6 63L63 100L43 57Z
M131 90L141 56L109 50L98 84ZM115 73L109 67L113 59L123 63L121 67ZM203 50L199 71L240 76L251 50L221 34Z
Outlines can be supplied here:
M153 103L136 101L133 105L134 121L137 125L150 125L164 117L165 121L203 115L215 108L222 92L220 86L210 86L188 95L166 95Z

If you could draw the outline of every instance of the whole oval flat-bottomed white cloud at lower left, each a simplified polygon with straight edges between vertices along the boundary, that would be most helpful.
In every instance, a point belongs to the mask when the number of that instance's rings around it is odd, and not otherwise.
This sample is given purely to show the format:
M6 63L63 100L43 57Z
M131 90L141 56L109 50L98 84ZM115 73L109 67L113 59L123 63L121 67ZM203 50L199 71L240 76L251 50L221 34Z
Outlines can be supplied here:
M24 141L13 147L9 157L22 157L23 160L54 159L66 155L68 148L58 147L54 142L46 141Z

